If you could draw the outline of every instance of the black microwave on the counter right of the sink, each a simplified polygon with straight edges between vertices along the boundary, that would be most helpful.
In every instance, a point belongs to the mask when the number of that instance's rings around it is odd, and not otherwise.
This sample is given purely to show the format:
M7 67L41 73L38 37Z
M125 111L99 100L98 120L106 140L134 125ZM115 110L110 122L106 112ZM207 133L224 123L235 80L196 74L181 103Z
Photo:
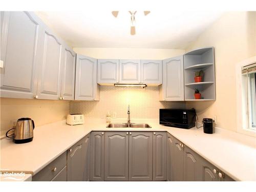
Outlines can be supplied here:
M165 126L174 126L182 129L190 129L195 126L196 110L160 109L159 123Z

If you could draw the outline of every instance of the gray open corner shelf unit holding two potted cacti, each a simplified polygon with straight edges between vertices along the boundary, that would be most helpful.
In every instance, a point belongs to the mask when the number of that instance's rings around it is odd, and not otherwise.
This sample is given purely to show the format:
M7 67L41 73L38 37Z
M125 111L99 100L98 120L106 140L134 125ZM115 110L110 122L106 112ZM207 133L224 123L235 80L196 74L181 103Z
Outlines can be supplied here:
M195 72L204 71L203 81L195 82ZM184 95L185 101L216 100L214 48L201 48L184 54ZM201 99L195 99L199 89Z

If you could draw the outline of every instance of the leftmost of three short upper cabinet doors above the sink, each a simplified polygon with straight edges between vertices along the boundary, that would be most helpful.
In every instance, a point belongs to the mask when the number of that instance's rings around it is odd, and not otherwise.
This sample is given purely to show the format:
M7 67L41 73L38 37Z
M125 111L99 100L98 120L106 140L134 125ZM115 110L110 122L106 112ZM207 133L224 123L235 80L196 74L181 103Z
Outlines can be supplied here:
M118 59L98 59L98 83L118 83L119 82L119 60Z

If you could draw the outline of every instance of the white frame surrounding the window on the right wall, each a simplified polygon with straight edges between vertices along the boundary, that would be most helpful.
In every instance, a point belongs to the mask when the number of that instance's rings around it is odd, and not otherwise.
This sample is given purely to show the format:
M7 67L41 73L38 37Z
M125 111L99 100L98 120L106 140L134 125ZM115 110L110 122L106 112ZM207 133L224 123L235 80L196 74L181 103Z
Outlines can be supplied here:
M247 92L242 86L243 83L248 83L248 79L243 77L242 68L249 65L250 63L256 62L256 56L243 60L237 63L236 68L236 84L237 84L237 132L249 136L256 137L256 131L249 129L248 115L249 110L246 109L248 99ZM245 98L246 97L246 98ZM247 126L246 126L247 125Z

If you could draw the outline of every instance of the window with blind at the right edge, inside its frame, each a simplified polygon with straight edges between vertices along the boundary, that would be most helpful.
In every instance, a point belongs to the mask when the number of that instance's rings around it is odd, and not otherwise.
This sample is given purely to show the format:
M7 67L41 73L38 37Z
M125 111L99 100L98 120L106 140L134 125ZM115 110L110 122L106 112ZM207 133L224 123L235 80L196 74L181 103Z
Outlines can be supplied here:
M256 132L256 62L242 67L243 129Z

